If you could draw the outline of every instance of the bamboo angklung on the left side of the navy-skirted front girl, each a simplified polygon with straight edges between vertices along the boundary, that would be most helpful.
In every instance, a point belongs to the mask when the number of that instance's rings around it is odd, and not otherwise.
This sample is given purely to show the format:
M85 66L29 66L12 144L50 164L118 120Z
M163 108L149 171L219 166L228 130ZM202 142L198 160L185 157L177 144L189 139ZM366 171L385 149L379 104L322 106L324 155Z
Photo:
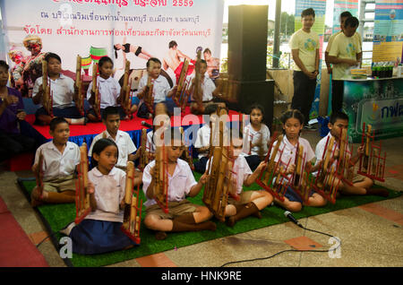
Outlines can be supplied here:
M87 143L80 147L80 164L78 165L78 177L75 184L75 220L79 224L90 211L90 194L88 189L88 150Z

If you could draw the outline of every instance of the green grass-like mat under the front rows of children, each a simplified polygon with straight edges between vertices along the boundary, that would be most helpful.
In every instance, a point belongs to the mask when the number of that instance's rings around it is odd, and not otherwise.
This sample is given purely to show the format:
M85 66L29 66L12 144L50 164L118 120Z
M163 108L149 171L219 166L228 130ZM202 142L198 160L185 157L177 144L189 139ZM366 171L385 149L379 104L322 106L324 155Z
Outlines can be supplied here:
M194 173L196 180L199 180L201 175ZM23 192L27 195L30 200L30 192L36 186L35 180L32 179L20 179L18 180L19 185ZM244 187L244 190L257 190L261 189L257 184L253 184L249 187ZM380 196L341 196L337 200L336 204L328 203L323 208L314 207L304 207L301 212L296 212L293 215L296 219L301 219L313 215L318 215L326 212L332 212L341 209L347 209L362 205L365 203L373 203L386 199L396 198L401 195L400 192L390 191L388 198L383 198ZM144 195L141 192L141 199L143 203L146 201ZM203 204L201 202L202 191L196 197L188 198L192 203ZM56 248L58 246L58 240L63 235L58 233L59 229L64 228L65 225L70 223L75 218L75 207L73 203L70 204L48 204L38 207L38 212L41 215L42 220L48 228L48 231L55 232L53 237L53 243ZM103 254L103 255L76 255L73 254L73 258L64 259L64 262L68 266L103 266L113 263L120 263L133 258L138 258L144 255L157 254L159 252L197 244L203 241L223 238L238 233L243 233L253 229L262 229L270 225L275 225L283 222L287 222L286 217L284 217L284 209L278 206L270 206L262 210L262 219L256 219L254 217L248 217L244 220L239 220L234 228L227 227L224 223L213 219L217 223L217 230L212 232L210 230L203 230L198 232L181 232L181 233L168 233L165 240L156 240L154 234L151 230L145 228L144 224L141 223L141 245L136 246L132 249ZM144 219L145 211L142 212L142 218Z

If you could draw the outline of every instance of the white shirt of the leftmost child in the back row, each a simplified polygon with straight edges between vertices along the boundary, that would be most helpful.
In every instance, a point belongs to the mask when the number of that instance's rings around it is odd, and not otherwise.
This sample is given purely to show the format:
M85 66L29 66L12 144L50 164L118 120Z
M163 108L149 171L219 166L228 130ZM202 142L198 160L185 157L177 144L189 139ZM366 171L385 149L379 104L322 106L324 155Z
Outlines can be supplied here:
M48 78L48 77L47 77ZM53 107L55 108L68 108L74 106L74 81L68 76L60 73L60 77L56 80L48 78L50 84L50 94L53 99ZM36 96L39 92L39 86L42 85L42 76L40 76L34 84L32 90L32 97ZM42 104L39 104L41 107Z

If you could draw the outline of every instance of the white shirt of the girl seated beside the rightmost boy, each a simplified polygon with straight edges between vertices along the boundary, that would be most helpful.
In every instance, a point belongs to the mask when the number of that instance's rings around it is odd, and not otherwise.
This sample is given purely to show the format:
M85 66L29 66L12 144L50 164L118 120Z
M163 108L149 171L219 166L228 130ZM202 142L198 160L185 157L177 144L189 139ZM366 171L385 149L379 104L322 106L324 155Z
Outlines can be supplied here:
M315 154L313 152L311 144L302 137L298 138L298 142L300 145L302 145L304 147L303 158L304 158L304 155L306 154L305 161L308 162L308 161L313 160L313 158L315 157ZM273 143L273 148L271 149L271 151L274 150L275 145L277 145L277 141ZM284 151L281 155L281 161L280 161L279 165L286 167L287 163L288 163L288 161L290 161L290 159L291 159L291 161L289 162L289 165L296 164L296 151L297 151L296 148L297 148L297 146L298 146L298 143L296 143L296 145L291 144L291 142L289 142L287 140L287 135L284 135L283 141L281 142L281 144L279 146L279 151L277 152L274 160L276 162L279 161L280 151L283 151L283 149L284 149ZM291 178L291 175L288 175L288 178Z

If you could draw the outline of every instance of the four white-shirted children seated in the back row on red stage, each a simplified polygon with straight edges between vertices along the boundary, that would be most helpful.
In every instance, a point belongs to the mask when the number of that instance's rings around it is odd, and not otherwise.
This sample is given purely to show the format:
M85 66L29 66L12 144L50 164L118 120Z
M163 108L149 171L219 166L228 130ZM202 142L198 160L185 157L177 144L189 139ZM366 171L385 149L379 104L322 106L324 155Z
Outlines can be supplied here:
M52 117L64 117L70 125L85 125L88 122L99 122L102 119L105 108L110 106L118 108L121 119L128 119L135 112L137 112L137 117L150 118L152 117L152 109L156 104L161 102L167 105L170 115L174 113L176 105L172 97L176 93L177 86L171 88L167 78L161 75L161 62L156 57L150 57L147 61L147 73L141 77L138 91L134 93L136 96L132 99L129 114L121 106L125 91L113 77L114 63L108 56L101 57L98 65L99 75L96 80L99 91L100 114L96 114L94 108L96 93L93 91L92 82L90 82L86 98L83 100L84 116L81 115L76 107L77 100L79 99L79 88L72 78L62 73L62 60L60 56L54 53L47 53L44 60L47 62L48 85L50 86L53 108L52 114L49 114L42 107L44 90L41 76L35 82L32 93L32 101L34 104L39 105L39 109L35 114L35 124L37 125L49 125ZM202 114L205 106L212 103L213 96L219 97L219 88L216 88L215 83L210 79L206 71L207 63L201 59L200 71L198 72L201 73L202 106L198 107L193 99L193 94L190 94L190 108L194 114ZM193 82L192 86L194 84L194 74L195 70L187 78L188 81ZM150 107L144 101L146 93L150 91L150 87L147 85L149 77L153 84L153 106ZM193 87L189 88L189 91L191 90L193 90Z

